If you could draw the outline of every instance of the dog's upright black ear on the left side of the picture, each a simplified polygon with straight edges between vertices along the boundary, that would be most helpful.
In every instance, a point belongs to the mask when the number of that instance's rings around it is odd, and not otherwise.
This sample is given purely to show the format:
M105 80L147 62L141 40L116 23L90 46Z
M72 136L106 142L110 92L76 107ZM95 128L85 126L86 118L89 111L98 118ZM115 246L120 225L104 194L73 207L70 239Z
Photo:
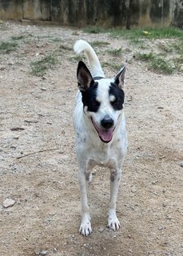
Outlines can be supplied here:
M91 84L93 84L93 78L88 70L86 64L84 62L78 63L77 70L77 78L78 78L78 88L81 91L86 91L90 88Z

